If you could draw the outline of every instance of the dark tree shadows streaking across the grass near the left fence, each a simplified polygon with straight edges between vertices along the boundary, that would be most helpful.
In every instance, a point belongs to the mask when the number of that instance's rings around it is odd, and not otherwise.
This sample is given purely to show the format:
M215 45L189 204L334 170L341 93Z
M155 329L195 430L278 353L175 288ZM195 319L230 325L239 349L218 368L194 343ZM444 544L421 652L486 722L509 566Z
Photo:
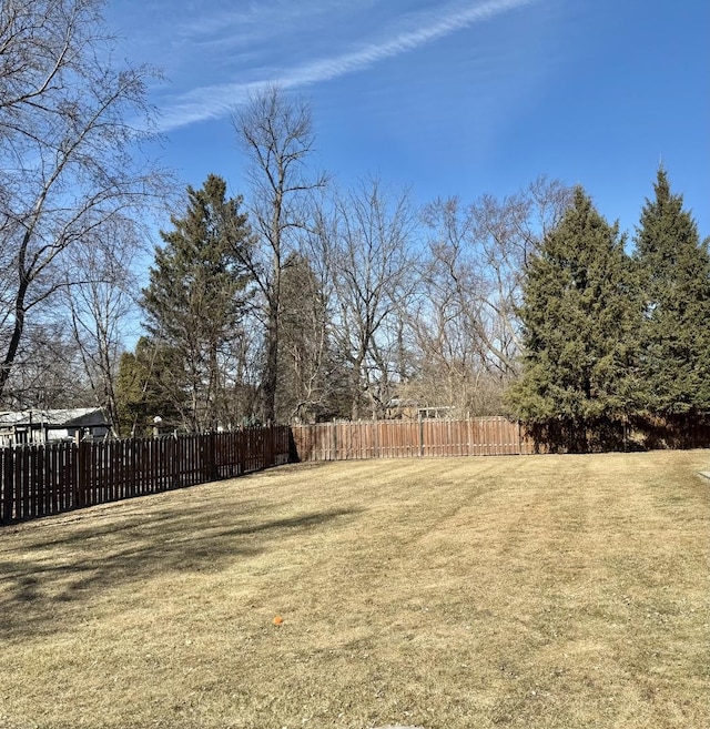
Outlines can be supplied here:
M239 508L239 515L189 505L136 510L133 520L124 514L108 520L88 517L58 524L57 530L23 533L14 545L13 535L6 533L8 538L0 541L0 638L53 634L62 629L62 611L88 606L108 589L130 590L171 573L219 573L271 544L348 523L361 510L268 518L263 503L241 503Z

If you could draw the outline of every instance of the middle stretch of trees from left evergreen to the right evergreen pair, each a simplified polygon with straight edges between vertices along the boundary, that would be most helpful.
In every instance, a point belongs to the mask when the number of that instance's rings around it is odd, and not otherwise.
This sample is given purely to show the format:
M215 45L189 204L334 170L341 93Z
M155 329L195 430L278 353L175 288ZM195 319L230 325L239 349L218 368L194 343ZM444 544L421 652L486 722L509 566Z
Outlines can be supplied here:
M233 123L248 194L212 174L161 232L145 336L118 373L122 431L500 414L527 262L572 191L540 179L417 210L377 179L310 175L308 107L278 89Z

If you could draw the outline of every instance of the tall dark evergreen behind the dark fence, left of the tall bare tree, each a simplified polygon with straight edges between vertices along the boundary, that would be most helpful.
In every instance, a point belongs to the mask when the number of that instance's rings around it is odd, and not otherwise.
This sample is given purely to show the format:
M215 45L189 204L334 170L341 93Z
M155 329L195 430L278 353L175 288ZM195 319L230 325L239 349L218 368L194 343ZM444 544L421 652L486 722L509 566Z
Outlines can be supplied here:
M191 431L229 425L226 371L239 350L248 276L237 251L252 242L241 198L226 199L226 183L211 174L201 190L187 188L184 217L172 216L155 251L143 290L145 328L156 346L173 351L164 382ZM234 414L232 414L234 415ZM226 423L225 423L226 421Z

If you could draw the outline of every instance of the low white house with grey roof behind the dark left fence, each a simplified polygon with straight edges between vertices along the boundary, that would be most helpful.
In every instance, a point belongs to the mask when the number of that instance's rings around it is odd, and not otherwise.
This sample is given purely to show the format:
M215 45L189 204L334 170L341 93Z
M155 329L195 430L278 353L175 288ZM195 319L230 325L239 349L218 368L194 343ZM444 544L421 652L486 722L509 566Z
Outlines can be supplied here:
M102 438L109 423L100 407L0 412L0 447L80 438Z

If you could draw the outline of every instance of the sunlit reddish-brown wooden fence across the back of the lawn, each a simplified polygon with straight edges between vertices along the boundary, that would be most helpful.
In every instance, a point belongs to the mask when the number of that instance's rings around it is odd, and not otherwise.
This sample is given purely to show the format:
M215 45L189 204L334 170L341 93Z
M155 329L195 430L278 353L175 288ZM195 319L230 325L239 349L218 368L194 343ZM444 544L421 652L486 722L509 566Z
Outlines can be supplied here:
M291 429L304 462L535 453L532 438L505 417L322 423Z

